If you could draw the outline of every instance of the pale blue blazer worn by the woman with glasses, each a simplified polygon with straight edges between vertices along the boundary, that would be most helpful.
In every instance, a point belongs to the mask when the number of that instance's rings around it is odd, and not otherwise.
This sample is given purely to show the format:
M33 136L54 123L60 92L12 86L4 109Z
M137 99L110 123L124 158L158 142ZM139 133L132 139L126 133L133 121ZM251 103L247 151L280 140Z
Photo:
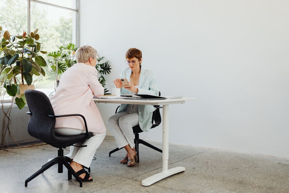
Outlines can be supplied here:
M129 67L124 68L121 72L120 78L127 78L130 82L131 69ZM121 94L130 94L129 90L121 88ZM159 89L157 81L155 80L155 73L151 70L140 68L140 79L138 82L138 94L146 95L159 95ZM127 104L121 104L119 111L122 112ZM143 131L148 131L151 126L151 120L153 111L156 108L153 105L138 105L138 123Z

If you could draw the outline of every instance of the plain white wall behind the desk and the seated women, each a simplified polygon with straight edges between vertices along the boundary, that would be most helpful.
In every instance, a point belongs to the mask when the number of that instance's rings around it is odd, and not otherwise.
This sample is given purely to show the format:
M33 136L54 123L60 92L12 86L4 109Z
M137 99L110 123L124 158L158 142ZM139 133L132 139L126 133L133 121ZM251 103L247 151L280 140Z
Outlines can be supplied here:
M289 157L288 0L80 1L81 45L110 60L143 52L170 106L171 143ZM113 104L99 104L103 119ZM162 128L140 137L162 140Z

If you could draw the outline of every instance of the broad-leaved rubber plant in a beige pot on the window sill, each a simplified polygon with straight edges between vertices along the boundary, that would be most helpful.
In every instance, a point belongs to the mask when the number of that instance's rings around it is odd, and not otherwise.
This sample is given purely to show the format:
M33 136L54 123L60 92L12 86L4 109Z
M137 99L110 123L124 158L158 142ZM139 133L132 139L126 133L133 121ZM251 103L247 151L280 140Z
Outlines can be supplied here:
M0 26L0 75L1 85L8 95L15 97L15 103L19 109L26 104L25 95L27 89L35 89L32 84L33 75L45 76L42 67L47 65L45 59L39 53L41 43L38 29L30 34L23 32L22 35L10 35L3 32Z

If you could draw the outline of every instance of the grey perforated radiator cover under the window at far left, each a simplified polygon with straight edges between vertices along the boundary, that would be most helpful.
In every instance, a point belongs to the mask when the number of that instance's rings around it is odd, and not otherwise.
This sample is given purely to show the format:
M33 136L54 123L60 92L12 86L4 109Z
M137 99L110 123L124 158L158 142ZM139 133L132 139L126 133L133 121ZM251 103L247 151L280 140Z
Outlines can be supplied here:
M15 104L13 106L16 106ZM8 112L9 108L3 108L5 112ZM12 107L11 113L10 113L10 120L11 124L9 125L11 136L13 139L21 146L23 145L29 145L29 144L35 144L40 143L41 141L39 139L36 139L32 136L30 136L27 132L27 124L29 121L29 115L26 114L26 112L29 111L28 106L23 107L23 109L19 109L17 106ZM3 119L4 119L4 113L2 111L2 108L0 107L0 144L3 142L3 148L9 147L15 147L18 146L16 142L12 139L10 136L9 130L6 130L6 126L8 125L8 118L5 119L5 137L3 140L2 134L3 134ZM0 146L1 148L1 146Z

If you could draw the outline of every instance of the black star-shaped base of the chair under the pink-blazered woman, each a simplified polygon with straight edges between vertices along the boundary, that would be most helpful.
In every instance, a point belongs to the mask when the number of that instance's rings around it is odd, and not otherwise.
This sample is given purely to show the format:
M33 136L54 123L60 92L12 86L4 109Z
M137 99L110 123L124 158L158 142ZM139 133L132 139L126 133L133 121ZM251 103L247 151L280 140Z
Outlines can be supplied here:
M67 168L68 170L68 180L72 179L72 175L75 177L75 179L79 182L79 186L82 187L82 181L76 174L76 172L71 168L71 166L68 164L67 159L70 159L66 156L63 155L63 149L59 148L58 150L58 156L53 158L51 161L47 162L40 170L35 172L32 176L27 178L25 180L25 187L27 187L27 184L29 181L32 179L36 178L39 174L43 173L45 170L53 166L54 164L58 163L58 173L63 172L63 165Z

